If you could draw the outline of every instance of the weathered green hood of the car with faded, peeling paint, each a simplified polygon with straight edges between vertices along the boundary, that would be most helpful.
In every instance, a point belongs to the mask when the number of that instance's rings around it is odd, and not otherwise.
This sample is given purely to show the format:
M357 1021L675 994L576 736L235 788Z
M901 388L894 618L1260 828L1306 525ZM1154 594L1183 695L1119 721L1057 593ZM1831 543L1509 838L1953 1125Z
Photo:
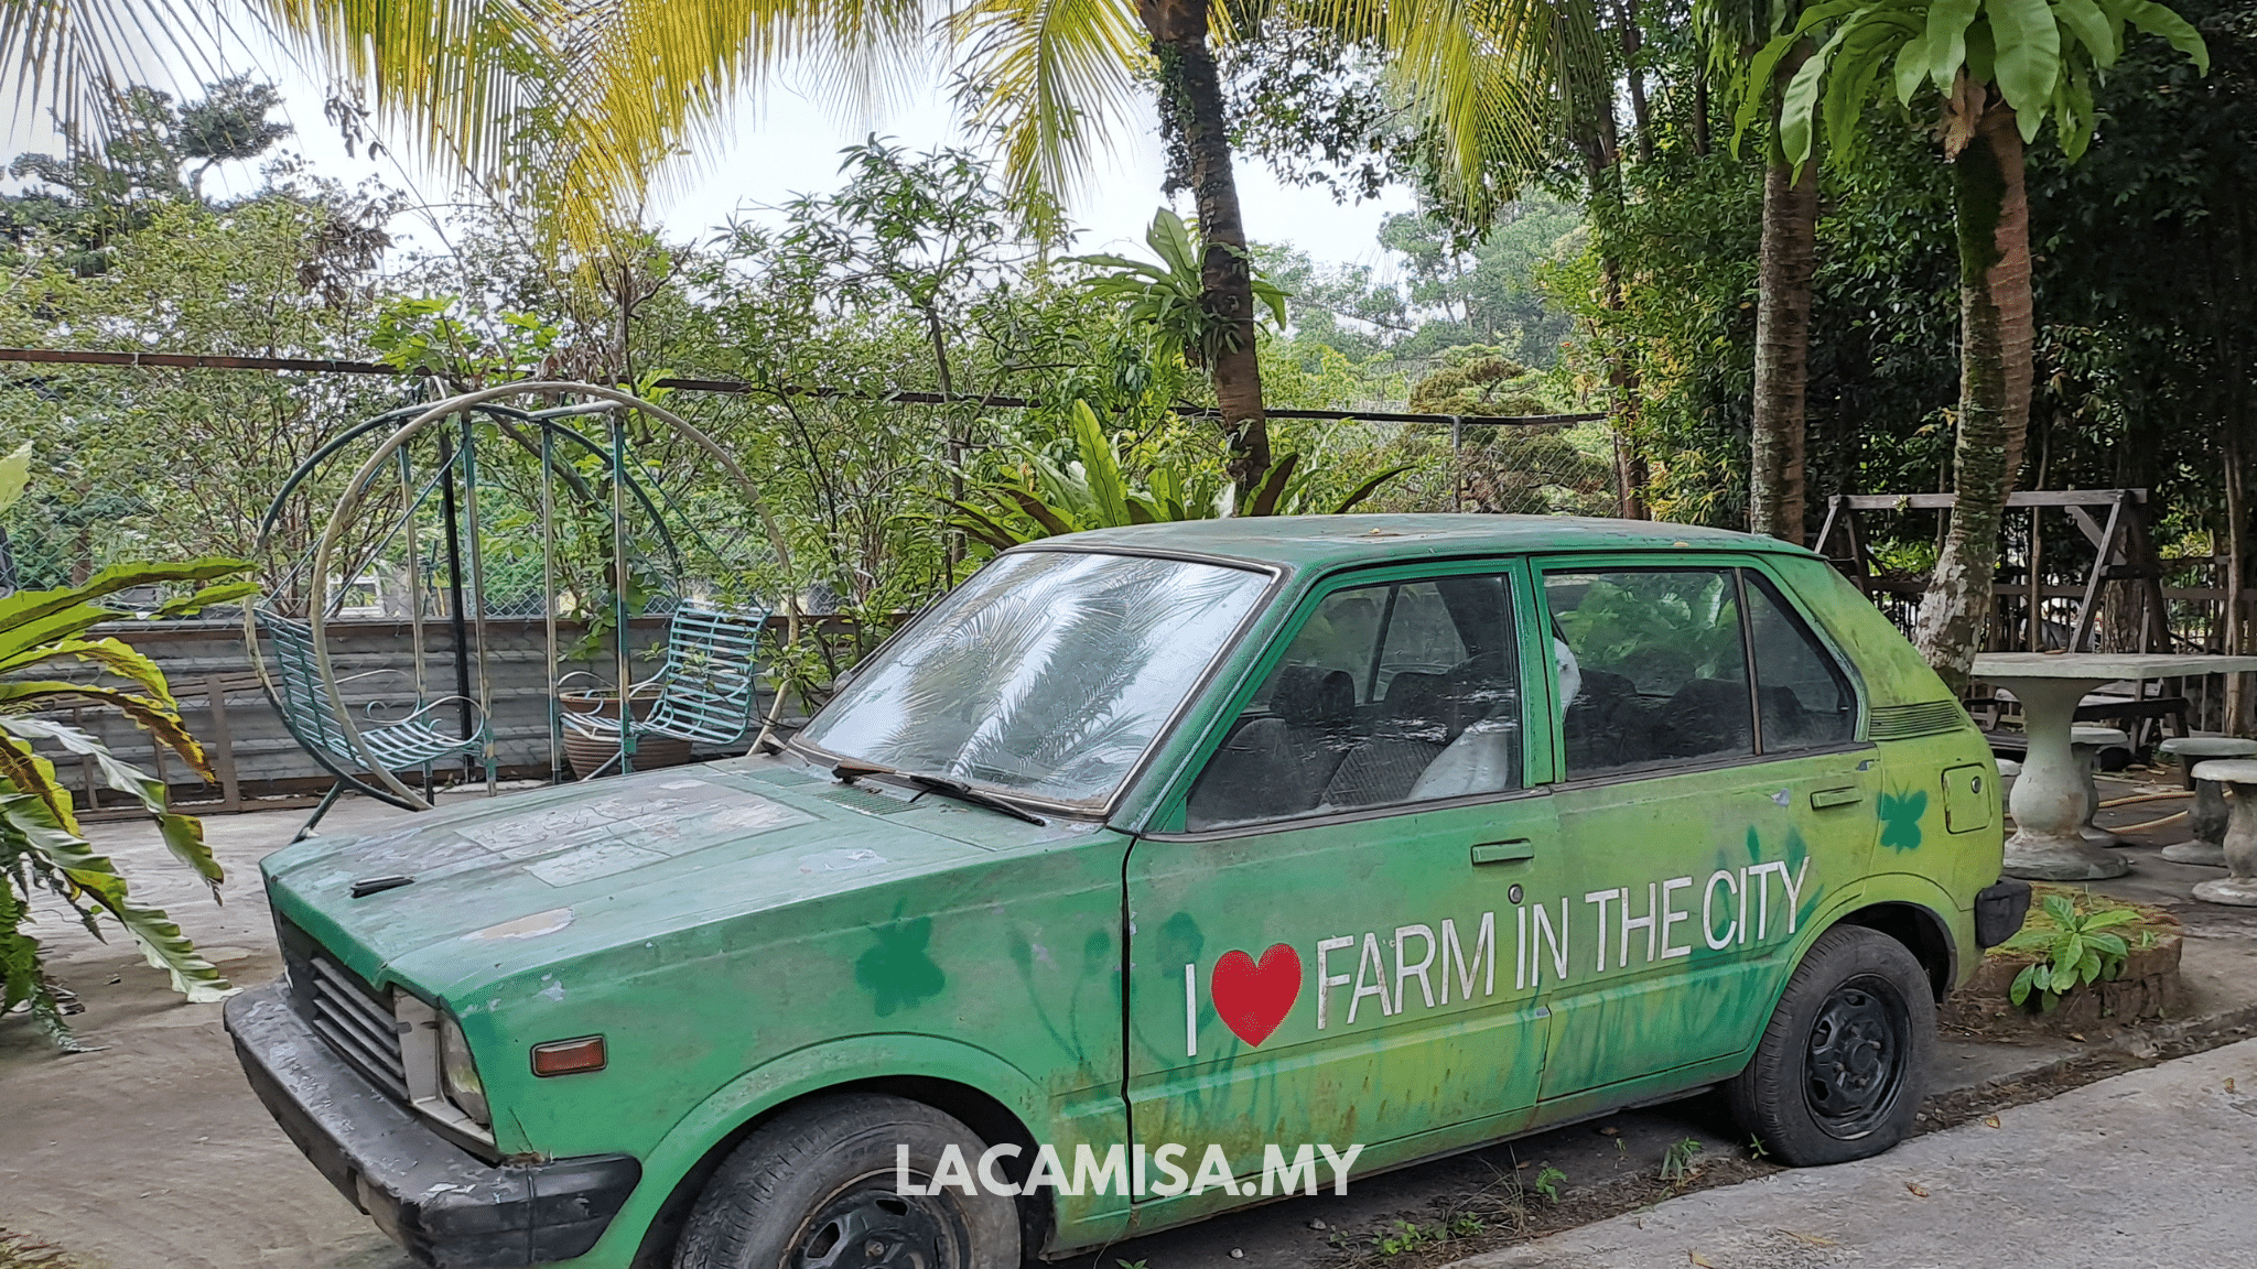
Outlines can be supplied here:
M445 989L472 966L483 978L512 973L1088 829L736 759L311 838L269 856L262 872L275 912L366 980ZM413 881L352 896L354 883L390 876ZM415 955L427 948L433 955Z

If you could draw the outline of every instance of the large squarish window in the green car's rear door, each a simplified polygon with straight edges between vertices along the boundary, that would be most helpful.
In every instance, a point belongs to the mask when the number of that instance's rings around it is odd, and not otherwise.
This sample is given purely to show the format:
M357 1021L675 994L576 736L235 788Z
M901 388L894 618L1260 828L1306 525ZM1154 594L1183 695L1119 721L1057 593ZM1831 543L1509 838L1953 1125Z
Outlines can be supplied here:
M1754 756L1731 569L1546 574L1566 777Z

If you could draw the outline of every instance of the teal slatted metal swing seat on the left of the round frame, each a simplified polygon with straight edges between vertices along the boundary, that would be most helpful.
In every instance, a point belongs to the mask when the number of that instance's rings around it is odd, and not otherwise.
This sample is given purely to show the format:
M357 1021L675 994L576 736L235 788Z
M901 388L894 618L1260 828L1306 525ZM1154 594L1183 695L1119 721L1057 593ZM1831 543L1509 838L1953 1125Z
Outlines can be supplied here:
M291 738L298 741L323 770L336 777L330 793L323 795L320 806L314 808L314 817L298 829L293 842L305 840L314 833L314 824L336 806L336 799L354 788L379 802L388 802L404 811L422 811L422 806L402 799L397 793L384 788L381 784L361 779L357 772L368 770L368 759L354 747L352 734L345 732L345 723L336 716L330 702L330 691L320 682L320 662L314 657L314 634L302 621L293 621L278 612L260 610L255 612L260 632L273 646L273 659L266 664L266 695L273 700L275 714L282 716L282 727L289 729ZM366 675L350 675L348 680L386 675L399 671L368 671ZM393 723L370 723L368 727L354 727L366 745L366 752L377 759L388 772L424 770L424 788L429 790L429 768L442 759L458 759L469 754L481 754L488 741L488 720L483 714L476 718L469 738L454 736L442 729L433 718L442 704L463 702L458 695L447 695L418 704L406 718Z

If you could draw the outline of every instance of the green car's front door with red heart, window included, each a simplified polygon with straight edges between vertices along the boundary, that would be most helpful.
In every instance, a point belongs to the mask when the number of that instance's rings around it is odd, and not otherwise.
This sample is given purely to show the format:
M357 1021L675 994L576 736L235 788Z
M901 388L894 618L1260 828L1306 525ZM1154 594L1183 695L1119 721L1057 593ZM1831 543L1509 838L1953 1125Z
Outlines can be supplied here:
M1356 574L1302 605L1180 831L1128 854L1140 1143L1187 1147L1185 1170L1219 1145L1259 1185L1266 1147L1363 1145L1368 1167L1526 1122L1544 1034L1521 903L1557 867L1526 779L1530 619L1501 565Z

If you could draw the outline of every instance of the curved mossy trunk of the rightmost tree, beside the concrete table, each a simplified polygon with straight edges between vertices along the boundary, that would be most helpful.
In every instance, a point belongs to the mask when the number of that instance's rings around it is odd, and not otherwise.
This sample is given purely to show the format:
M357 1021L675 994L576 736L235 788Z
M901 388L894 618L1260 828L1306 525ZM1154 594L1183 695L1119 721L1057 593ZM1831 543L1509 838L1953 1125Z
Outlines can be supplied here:
M1959 228L1957 506L1921 601L1914 641L1952 691L1966 689L1997 576L1997 533L2029 434L2029 203L2013 108L1991 102L1952 160Z

